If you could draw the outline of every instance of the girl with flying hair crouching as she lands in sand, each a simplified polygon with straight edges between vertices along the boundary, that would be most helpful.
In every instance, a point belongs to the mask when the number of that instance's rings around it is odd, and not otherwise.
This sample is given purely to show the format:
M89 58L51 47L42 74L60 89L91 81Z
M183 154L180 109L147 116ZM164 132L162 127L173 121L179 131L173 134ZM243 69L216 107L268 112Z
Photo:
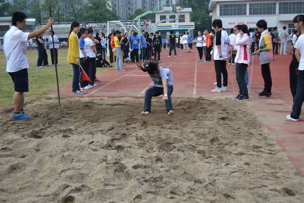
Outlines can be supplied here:
M167 114L174 114L172 108L171 94L173 92L173 75L170 69L163 69L155 60L145 61L143 66L137 65L139 70L148 72L153 86L146 90L144 95L144 111L141 115L145 116L151 113L151 99L153 96L163 94L162 101L165 101Z

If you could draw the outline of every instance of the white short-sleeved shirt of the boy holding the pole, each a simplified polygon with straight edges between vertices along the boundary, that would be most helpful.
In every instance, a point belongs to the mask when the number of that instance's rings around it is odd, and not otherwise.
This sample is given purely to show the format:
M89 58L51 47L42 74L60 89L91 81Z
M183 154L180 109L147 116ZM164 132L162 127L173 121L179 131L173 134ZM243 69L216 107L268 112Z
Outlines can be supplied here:
M16 26L12 26L5 34L3 49L7 59L7 72L14 73L28 68L26 57L28 35L29 32L23 32Z

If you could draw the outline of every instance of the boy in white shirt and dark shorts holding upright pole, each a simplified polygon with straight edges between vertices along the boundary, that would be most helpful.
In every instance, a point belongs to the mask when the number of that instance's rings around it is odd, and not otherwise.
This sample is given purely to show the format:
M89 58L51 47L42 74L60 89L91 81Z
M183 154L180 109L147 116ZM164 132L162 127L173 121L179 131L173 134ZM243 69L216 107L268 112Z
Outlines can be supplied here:
M12 27L4 36L3 49L7 59L6 71L12 77L14 82L14 115L13 120L30 119L31 117L24 115L24 92L28 92L28 62L26 57L25 43L37 36L40 36L52 24L53 19L49 18L48 24L33 32L23 32L26 26L26 15L22 12L15 12L12 17Z

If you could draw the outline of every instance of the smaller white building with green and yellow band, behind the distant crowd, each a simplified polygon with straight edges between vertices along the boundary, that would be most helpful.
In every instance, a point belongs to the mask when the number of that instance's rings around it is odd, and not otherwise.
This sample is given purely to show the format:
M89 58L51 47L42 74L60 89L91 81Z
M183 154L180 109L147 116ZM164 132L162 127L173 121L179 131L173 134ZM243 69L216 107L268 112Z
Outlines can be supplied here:
M180 7L176 7L176 9L180 9ZM195 24L191 22L192 8L182 8L180 12L176 12L169 17L171 13L172 7L164 7L164 13L155 14L156 25L154 26L153 32L159 31L161 37L167 37L170 35L171 30L173 30L176 36L184 31L189 31L193 36Z

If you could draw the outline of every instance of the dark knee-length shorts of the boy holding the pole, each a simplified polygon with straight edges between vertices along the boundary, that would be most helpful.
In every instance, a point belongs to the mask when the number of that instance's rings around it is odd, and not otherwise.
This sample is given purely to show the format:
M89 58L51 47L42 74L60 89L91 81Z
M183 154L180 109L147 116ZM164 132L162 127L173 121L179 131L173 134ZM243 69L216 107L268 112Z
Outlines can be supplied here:
M14 82L15 92L28 92L28 73L27 69L9 73Z

